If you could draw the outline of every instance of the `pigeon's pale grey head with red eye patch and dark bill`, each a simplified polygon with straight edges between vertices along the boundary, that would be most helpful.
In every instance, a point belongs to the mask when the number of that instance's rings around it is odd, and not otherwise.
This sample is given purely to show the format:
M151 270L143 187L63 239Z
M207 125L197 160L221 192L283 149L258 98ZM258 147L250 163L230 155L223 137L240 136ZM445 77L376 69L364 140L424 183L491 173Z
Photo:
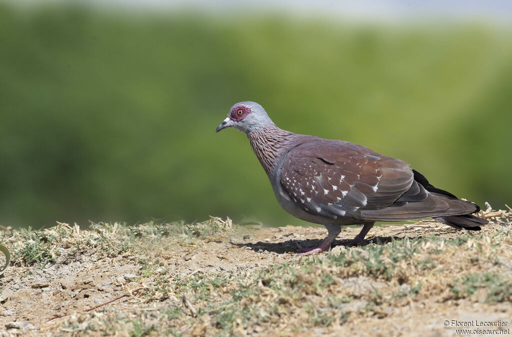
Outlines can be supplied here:
M234 104L227 118L217 127L216 132L226 128L235 128L245 134L257 129L275 125L260 104L251 101Z

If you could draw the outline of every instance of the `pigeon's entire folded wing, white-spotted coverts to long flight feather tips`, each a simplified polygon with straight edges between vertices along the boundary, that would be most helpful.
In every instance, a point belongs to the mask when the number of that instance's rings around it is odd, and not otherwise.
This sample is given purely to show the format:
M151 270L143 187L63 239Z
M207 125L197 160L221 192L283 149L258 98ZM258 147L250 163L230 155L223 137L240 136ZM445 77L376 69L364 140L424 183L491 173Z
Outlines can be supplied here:
M332 219L417 219L445 215L452 206L432 197L408 163L345 141L317 138L291 149L280 183L298 207Z

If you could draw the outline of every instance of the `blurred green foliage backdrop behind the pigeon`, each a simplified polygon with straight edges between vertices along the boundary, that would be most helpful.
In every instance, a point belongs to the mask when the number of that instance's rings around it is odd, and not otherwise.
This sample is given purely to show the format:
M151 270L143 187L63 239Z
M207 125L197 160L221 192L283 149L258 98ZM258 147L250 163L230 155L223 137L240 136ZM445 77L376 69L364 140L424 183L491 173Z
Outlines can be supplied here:
M512 30L157 12L0 2L0 224L303 223L246 136L215 133L242 100L512 202Z

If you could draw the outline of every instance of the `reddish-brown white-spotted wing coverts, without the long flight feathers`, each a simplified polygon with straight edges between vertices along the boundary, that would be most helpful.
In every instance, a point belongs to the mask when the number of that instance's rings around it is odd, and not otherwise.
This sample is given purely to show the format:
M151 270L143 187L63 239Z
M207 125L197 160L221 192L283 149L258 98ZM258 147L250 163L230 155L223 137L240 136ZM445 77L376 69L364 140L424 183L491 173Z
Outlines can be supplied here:
M288 153L281 172L283 189L313 214L386 207L412 180L407 163L343 141L305 142Z

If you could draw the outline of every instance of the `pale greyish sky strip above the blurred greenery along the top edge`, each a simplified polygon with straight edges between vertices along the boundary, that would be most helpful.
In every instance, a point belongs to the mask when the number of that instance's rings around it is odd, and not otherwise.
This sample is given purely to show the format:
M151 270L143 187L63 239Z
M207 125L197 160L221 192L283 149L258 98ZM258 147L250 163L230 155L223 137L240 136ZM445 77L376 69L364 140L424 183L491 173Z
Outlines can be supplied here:
M94 3L110 8L174 11L188 9L207 13L230 11L284 12L299 16L327 16L379 22L418 19L485 20L512 22L511 0L10 0L17 4L45 2Z

